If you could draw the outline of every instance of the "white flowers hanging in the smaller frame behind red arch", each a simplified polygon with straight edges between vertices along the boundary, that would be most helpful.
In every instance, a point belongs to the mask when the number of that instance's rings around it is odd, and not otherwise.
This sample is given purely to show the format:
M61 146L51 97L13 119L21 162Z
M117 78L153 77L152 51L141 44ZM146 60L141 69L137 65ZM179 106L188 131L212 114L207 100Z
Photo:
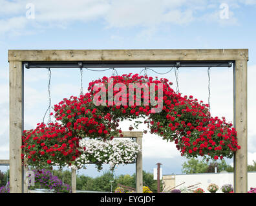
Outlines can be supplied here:
M80 140L80 157L74 165L85 168L85 164L96 164L100 171L103 164L109 164L113 170L118 164L131 164L136 160L138 153L142 153L140 145L129 139L121 140Z

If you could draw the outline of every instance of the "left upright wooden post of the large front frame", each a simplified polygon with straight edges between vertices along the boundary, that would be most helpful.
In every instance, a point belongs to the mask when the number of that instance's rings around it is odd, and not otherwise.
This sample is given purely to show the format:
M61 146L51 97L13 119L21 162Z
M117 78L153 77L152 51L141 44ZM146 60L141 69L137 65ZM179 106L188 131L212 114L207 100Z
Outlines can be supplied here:
M23 64L10 61L10 193L23 192L21 143L23 133Z

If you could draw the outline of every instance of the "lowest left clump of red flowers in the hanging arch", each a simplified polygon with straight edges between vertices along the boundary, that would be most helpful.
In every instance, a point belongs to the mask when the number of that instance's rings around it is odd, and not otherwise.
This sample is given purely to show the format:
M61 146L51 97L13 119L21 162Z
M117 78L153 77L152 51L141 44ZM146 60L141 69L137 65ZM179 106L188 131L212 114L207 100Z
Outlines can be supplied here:
M80 156L79 138L57 122L37 124L36 129L24 131L22 140L21 158L37 168L71 165Z

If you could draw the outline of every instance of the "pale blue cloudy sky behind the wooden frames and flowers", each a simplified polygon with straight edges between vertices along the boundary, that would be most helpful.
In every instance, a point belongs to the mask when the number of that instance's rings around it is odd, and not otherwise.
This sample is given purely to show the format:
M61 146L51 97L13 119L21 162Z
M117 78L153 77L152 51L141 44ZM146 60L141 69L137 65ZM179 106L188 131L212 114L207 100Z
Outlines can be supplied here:
M248 48L248 164L256 160L255 75L256 0L0 0L0 159L9 158L8 50L99 49L231 49ZM118 75L140 73L144 68L116 68ZM154 68L166 72L169 68ZM180 68L182 95L208 102L208 68ZM92 80L112 71L83 70L83 92ZM175 73L165 77L176 89ZM233 122L233 70L211 68L211 114ZM79 69L52 69L52 106L80 93ZM48 71L25 69L25 129L36 127L48 108ZM48 117L48 116L47 116ZM122 130L129 125L122 124ZM143 125L138 130L144 129ZM160 136L143 138L143 167L153 172L160 162L163 174L182 173L173 143ZM233 160L226 159L229 164ZM5 171L7 167L0 166ZM103 171L108 170L105 165ZM101 173L103 173L103 171ZM115 174L133 174L135 165L120 165ZM80 173L98 176L94 165Z

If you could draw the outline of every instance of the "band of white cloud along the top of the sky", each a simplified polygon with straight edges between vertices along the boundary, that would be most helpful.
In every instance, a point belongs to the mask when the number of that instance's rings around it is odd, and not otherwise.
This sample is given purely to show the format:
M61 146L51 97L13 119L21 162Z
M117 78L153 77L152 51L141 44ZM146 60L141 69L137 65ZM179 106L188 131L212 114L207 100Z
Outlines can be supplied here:
M26 12L34 5L35 19L27 19ZM255 1L228 1L229 19L220 19L221 1L209 3L197 0L76 0L63 1L0 1L0 33L20 35L40 32L48 27L67 28L72 23L102 20L107 27L155 27L161 24L184 25L195 21L237 24L235 12L239 5L255 5ZM39 30L40 28L40 30Z

